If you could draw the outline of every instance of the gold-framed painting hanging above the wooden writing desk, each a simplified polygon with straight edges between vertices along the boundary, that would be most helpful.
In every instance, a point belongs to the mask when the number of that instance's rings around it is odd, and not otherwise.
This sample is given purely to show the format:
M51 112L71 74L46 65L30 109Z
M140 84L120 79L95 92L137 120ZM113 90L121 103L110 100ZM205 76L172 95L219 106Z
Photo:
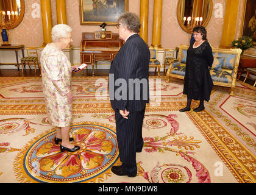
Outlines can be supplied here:
M116 25L120 15L127 12L128 0L79 0L80 24Z

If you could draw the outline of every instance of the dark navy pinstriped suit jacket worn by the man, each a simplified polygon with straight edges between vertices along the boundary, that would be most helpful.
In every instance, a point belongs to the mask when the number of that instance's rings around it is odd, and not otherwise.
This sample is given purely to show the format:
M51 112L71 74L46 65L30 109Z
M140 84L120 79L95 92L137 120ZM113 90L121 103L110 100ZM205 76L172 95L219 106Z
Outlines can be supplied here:
M125 108L138 112L149 103L149 59L149 48L138 34L130 36L119 49L108 80L110 102L116 112Z

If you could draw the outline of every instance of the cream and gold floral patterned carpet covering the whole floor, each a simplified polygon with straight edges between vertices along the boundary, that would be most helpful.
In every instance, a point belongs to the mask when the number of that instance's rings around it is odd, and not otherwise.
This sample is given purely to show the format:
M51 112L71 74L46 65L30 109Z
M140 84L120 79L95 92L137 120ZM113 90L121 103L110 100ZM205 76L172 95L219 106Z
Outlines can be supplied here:
M256 90L214 87L205 110L180 113L183 81L150 77L138 176L115 176L115 115L108 77L73 77L71 134L76 153L60 152L46 116L40 77L0 77L0 182L256 182ZM191 106L196 108L198 101Z

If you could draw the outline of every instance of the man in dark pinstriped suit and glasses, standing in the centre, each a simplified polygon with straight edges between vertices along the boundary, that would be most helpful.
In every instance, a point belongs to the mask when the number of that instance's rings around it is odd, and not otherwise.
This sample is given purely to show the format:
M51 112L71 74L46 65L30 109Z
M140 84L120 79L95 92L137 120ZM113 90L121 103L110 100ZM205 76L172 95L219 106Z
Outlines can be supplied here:
M118 176L137 176L136 152L143 147L142 125L149 103L149 59L147 44L138 35L140 19L134 13L124 13L116 25L125 41L110 67L109 94L116 119L121 166L113 166Z

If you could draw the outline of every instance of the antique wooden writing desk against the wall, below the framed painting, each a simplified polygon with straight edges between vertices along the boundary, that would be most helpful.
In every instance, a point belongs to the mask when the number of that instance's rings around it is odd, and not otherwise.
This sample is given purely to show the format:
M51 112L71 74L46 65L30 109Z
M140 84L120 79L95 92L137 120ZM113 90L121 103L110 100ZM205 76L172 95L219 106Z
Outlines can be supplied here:
M112 62L123 44L119 35L111 31L83 32L80 61L91 64L94 75L94 65L103 60Z

